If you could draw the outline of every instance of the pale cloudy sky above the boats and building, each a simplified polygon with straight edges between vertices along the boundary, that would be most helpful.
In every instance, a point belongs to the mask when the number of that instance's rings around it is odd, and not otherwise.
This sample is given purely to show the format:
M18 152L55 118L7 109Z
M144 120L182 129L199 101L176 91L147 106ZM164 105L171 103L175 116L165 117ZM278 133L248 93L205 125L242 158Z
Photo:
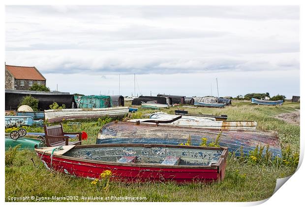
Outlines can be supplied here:
M86 95L300 94L298 6L6 6L7 65Z

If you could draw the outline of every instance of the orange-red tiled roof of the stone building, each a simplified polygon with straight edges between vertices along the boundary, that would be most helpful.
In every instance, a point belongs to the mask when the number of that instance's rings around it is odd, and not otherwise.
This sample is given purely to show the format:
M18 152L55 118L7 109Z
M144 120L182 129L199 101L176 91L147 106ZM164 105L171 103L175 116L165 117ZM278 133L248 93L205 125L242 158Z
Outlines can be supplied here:
M46 80L35 67L5 65L5 69L7 69L16 79Z

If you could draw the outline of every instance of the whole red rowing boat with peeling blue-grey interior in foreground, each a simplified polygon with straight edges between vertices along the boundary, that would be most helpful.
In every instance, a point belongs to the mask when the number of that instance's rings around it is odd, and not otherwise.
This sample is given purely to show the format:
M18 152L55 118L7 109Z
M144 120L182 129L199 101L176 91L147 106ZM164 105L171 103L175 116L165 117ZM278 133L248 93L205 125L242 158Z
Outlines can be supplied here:
M122 181L219 181L224 178L227 147L164 144L95 144L36 148L48 169L98 178L106 170ZM52 159L51 159L52 157Z

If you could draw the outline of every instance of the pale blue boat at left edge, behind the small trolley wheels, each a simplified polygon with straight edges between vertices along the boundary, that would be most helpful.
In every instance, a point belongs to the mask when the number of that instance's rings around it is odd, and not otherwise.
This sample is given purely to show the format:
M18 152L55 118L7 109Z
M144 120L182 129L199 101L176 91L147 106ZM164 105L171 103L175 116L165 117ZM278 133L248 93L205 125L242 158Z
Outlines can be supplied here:
M5 116L5 128L20 126L42 126L43 120L34 121L31 116Z

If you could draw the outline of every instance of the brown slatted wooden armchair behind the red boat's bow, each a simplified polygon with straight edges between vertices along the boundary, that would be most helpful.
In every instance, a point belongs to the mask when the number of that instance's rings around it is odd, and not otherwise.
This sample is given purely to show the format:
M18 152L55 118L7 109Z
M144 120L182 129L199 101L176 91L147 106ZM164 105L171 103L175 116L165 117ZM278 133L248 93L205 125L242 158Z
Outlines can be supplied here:
M46 126L44 127L44 133L45 133L45 139L46 139L46 145L49 146L61 146L61 145L80 145L82 144L82 133L76 132L76 133L67 133L63 132L62 124L56 125L56 126ZM69 141L68 136L65 135L78 135L78 141Z

